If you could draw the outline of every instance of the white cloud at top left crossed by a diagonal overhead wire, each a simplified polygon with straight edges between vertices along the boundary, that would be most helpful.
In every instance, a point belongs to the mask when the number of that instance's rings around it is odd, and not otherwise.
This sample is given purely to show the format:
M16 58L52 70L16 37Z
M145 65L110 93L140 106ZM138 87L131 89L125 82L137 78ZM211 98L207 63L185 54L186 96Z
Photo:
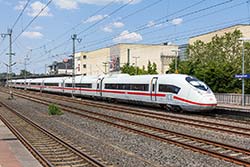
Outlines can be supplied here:
M45 4L41 3L40 1L36 1L30 5L30 8L28 9L28 15L35 17L44 7ZM39 16L52 16L49 7L46 7Z

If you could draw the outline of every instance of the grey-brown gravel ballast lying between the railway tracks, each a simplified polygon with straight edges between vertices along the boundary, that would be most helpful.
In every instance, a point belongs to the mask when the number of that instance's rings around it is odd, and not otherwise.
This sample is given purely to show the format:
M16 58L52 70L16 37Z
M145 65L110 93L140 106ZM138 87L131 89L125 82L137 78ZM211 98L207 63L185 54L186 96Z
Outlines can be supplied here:
M91 150L92 153L114 166L237 166L217 158L136 135L105 123L99 123L70 113L65 112L61 116L48 116L47 106L20 98L7 100L6 97L6 94L0 93L1 101L11 104L13 108L43 127L57 132L59 135L74 141L74 143L87 150ZM86 109L90 108L86 107ZM151 126L249 148L248 143L250 140L244 137L212 132L166 121L146 119L130 114L114 114L114 112L102 109L97 110L93 107L92 110L136 122L147 123Z

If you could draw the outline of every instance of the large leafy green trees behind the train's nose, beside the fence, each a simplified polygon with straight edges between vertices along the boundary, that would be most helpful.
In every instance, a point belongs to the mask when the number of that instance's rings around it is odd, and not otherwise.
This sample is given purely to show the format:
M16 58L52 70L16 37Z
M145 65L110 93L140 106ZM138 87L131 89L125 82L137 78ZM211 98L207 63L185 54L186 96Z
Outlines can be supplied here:
M215 92L240 93L241 81L234 78L241 74L242 33L235 30L223 36L214 36L208 43L196 41L187 49L188 59L178 63L179 73L193 75L206 82ZM245 43L246 73L250 73L250 44ZM174 72L174 61L170 65ZM250 81L246 92L250 93Z

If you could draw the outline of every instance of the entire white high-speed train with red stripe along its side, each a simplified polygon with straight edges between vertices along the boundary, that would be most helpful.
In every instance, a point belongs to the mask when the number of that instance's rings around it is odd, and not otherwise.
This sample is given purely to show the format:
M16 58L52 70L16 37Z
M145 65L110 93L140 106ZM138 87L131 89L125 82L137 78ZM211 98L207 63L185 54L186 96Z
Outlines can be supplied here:
M76 76L74 87L72 77L31 78L26 81L16 79L10 85L15 88L157 104L185 111L212 110L217 105L213 92L205 83L183 74Z

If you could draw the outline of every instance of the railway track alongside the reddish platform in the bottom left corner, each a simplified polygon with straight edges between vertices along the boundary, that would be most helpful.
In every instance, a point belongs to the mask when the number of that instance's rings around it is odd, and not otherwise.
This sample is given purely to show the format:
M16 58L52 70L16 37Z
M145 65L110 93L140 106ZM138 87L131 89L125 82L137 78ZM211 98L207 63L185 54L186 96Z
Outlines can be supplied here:
M32 122L5 103L0 119L45 167L106 167L108 164L77 149L69 140L58 137ZM6 112L7 111L7 112Z

